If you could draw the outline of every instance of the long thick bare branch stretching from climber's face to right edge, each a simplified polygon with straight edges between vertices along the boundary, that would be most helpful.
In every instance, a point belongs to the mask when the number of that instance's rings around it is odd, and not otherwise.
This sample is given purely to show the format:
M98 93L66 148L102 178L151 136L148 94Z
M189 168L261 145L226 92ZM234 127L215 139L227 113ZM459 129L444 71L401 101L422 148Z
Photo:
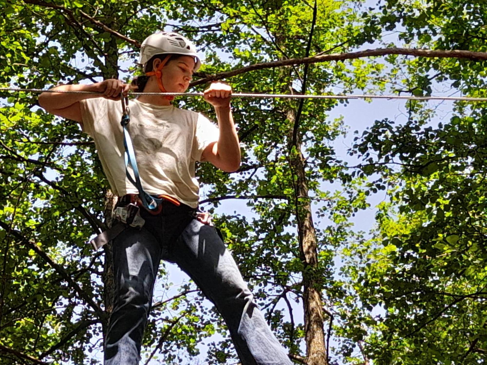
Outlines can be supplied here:
M377 48L374 50L364 50L358 52L332 54L332 55L314 55L304 58L281 59L272 62L255 63L240 69L207 75L204 78L193 81L189 86L205 84L210 81L220 80L255 70L269 69L274 67L302 65L307 63L343 61L346 59L356 59L362 57L374 57L384 55L410 55L415 57L429 58L466 58L470 60L487 60L487 52L461 51L461 50L422 50L414 48Z

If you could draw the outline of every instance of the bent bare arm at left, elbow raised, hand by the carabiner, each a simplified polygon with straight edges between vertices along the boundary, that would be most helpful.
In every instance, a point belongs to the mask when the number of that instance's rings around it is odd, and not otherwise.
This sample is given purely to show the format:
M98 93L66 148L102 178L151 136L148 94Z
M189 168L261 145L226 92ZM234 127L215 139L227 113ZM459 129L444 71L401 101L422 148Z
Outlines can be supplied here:
M61 85L52 88L53 91L90 91L99 92L96 94L68 94L61 92L43 92L39 95L39 105L48 113L75 120L81 123L81 109L79 102L84 99L105 97L118 100L121 92L129 91L130 85L120 80L105 80L91 85Z

